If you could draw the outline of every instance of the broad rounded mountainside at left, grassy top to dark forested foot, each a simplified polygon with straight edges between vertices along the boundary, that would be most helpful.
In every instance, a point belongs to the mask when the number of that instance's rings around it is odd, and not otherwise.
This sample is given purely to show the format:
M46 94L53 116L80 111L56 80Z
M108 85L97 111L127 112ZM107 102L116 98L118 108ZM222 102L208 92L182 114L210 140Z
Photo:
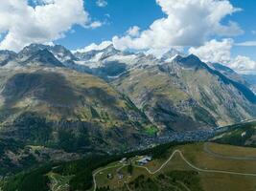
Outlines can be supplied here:
M127 96L96 76L53 66L0 69L3 174L77 153L127 150L151 137L151 128Z

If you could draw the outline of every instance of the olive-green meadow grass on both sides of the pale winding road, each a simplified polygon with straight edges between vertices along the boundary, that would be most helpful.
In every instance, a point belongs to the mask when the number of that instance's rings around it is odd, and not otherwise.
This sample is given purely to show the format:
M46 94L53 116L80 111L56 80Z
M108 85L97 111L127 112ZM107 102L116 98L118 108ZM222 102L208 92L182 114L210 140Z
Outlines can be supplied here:
M223 155L234 155L242 156L242 157L251 157L256 156L255 149L247 149L243 147L234 147L228 145L218 145L218 144L210 144L211 149L220 152ZM175 148L180 149L185 158L189 159L196 166L203 169L219 169L219 170L227 170L227 171L235 171L235 172L244 172L244 173L255 173L256 161L243 161L243 160L232 160L232 159L218 159L210 156L203 152L203 145L200 144L188 144L184 146L177 146ZM163 157L163 159L153 160L148 167L151 169L157 169L167 157L169 157L175 148L172 148L167 156ZM113 164L110 164L113 165ZM109 166L110 166L109 165ZM123 169L124 174L127 174L127 169ZM102 185L102 187L110 186L111 190L125 190L126 185L123 184L127 178L121 180L121 183L117 183L119 180L114 178L113 180L107 180L106 174L112 173L116 174L116 169L110 169L105 171L104 174L98 176L98 183ZM165 176L165 179L162 182L159 182L162 175ZM140 178L144 177L143 180ZM160 178L159 178L160 176ZM189 179L187 178L189 177ZM139 180L138 180L139 179ZM149 180L150 179L150 180ZM174 181L175 179L175 181ZM133 170L133 175L129 180L129 186L131 190L134 190L135 184L137 184L138 190L150 190L150 186L155 186L155 190L166 190L167 188L163 188L162 185L170 187L172 185L176 185L181 190L186 190L180 182L183 182L190 190L253 190L256 186L256 178L251 177L243 177L243 176L234 176L234 175L222 175L222 174L214 174L214 173L197 173L194 169L189 167L184 163L179 156L175 156L175 158L169 162L166 168L156 175L149 175L145 170L136 169ZM216 183L212 183L216 182ZM195 187L194 187L195 186ZM116 187L116 188L114 188Z

